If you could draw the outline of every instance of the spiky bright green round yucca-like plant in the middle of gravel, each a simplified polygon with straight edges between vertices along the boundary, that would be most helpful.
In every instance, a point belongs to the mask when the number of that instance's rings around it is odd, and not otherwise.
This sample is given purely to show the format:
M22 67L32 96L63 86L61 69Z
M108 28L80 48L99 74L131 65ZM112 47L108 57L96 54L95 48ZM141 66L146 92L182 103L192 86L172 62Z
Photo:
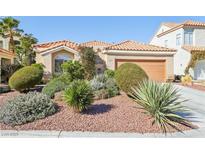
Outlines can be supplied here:
M93 92L89 82L85 80L75 80L64 92L65 102L75 111L81 112L93 103Z

